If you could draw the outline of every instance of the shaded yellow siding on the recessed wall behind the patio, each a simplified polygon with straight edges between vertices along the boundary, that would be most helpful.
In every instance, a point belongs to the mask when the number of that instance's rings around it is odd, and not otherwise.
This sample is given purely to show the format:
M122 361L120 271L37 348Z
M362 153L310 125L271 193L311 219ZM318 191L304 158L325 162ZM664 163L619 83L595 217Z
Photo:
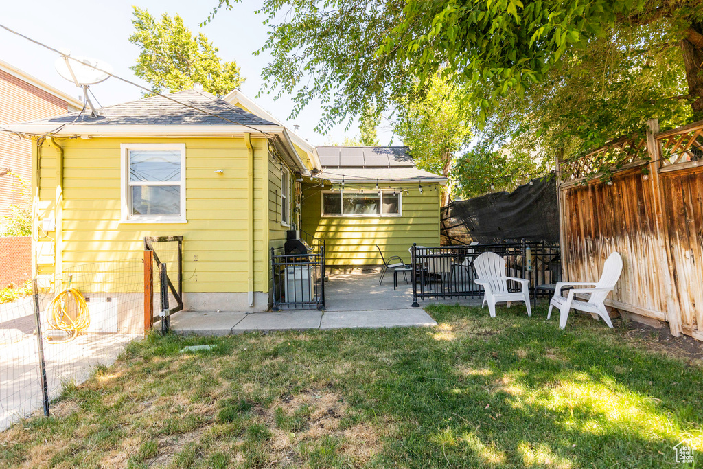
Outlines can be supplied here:
M379 265L383 255L400 256L410 262L408 248L418 245L439 245L439 191L425 189L419 193L413 184L402 198L402 217L321 217L320 187L304 188L302 229L325 240L328 265ZM365 186L373 190L374 186Z

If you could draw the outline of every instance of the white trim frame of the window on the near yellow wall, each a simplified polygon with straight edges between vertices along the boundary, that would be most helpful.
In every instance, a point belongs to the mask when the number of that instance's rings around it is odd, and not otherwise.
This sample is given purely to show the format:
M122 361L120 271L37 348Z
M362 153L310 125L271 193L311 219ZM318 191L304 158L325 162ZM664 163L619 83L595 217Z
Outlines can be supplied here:
M129 210L129 150L178 150L181 152L181 181L155 181L151 186L181 186L181 214L130 215ZM186 220L186 144L185 143L122 143L120 144L120 223L188 223Z

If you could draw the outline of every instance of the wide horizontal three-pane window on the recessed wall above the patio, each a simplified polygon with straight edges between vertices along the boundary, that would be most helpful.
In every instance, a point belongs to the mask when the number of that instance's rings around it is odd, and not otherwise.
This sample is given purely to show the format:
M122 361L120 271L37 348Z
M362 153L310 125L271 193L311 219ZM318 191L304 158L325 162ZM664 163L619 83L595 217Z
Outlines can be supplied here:
M400 192L327 191L322 193L323 217L400 217Z

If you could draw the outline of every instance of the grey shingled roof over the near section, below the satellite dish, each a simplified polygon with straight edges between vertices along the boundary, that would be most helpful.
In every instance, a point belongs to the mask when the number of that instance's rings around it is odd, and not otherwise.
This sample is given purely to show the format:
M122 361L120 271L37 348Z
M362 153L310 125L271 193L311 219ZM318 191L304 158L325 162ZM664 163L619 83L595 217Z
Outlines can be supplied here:
M73 125L276 125L257 117L224 99L212 96L202 89L176 91L169 96L178 102L162 96L138 99L129 103L115 104L98 110L98 116L70 113L48 119L35 120L32 124ZM185 104L185 105L184 105ZM189 108L186 105L205 110ZM218 117L220 116L220 117ZM30 122L26 122L30 123Z

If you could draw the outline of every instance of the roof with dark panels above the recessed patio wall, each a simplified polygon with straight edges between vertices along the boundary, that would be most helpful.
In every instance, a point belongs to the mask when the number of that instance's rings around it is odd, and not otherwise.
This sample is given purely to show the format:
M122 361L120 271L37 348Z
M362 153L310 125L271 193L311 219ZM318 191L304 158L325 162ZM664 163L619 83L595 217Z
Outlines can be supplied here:
M407 146L318 146L322 172L329 181L436 181L447 178L415 167Z

